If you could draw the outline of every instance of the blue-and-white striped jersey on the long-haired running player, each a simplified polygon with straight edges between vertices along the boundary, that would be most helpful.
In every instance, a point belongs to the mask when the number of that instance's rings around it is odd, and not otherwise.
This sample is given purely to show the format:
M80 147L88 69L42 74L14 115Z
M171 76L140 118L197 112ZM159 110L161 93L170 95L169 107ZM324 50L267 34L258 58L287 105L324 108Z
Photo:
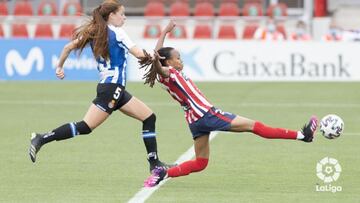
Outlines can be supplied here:
M125 87L126 67L129 49L135 46L121 27L108 25L109 59L99 57L97 69L100 73L99 83L115 83Z

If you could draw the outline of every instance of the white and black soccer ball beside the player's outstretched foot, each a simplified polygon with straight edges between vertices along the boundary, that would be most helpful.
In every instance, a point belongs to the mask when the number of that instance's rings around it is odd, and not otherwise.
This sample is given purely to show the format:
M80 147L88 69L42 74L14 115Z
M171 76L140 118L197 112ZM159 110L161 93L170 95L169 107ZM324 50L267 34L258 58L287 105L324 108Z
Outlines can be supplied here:
M344 130L344 121L335 114L324 116L320 122L320 132L328 139L338 138Z

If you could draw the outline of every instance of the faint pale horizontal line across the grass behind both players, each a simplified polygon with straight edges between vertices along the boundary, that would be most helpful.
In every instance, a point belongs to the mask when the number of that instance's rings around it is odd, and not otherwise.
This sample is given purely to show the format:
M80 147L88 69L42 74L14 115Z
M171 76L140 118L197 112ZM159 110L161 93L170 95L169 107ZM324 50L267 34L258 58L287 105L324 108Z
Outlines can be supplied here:
M150 106L178 106L175 102L145 102ZM89 101L73 101L73 100L0 100L0 104L8 104L8 105L19 105L19 104L29 104L29 105L90 105L91 100ZM309 103L295 103L295 102L238 102L238 103L222 103L217 102L216 105L226 105L226 106L243 106L243 107L283 107L283 108L291 108L291 107L318 107L318 108L360 108L360 103L317 103L317 102L309 102Z

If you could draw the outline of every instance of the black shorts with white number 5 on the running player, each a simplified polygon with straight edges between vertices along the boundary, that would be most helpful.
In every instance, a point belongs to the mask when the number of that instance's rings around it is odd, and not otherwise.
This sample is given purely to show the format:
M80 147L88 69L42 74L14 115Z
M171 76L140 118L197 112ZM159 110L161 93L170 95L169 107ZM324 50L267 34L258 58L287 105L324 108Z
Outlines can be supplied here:
M93 103L108 114L120 109L132 98L123 86L113 83L98 84L96 93Z

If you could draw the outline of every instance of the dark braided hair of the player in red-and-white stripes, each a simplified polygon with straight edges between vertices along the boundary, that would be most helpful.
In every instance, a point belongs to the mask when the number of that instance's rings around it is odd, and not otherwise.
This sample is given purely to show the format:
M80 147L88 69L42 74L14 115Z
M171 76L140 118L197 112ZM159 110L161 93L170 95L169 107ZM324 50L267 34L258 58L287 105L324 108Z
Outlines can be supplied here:
M167 66L165 61L171 58L171 51L173 49L174 48L172 47L162 47L158 50L159 56L163 57L163 59L159 59L162 66ZM155 61L151 60L150 54L148 54L145 50L143 51L145 57L140 59L139 63L141 65L140 68L145 69L145 74L143 77L143 79L145 79L144 84L149 84L150 87L153 87L155 85L155 81L159 80L158 73L154 65Z

